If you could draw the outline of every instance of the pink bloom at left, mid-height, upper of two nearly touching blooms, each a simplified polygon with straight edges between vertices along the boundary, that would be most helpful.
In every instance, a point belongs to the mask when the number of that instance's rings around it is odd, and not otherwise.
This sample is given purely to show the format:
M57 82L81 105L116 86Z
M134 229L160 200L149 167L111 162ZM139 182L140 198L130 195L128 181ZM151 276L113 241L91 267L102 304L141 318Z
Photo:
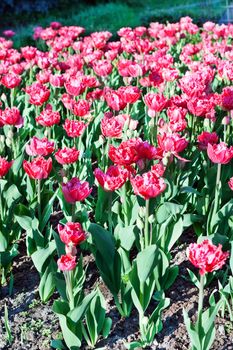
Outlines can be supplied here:
M26 146L26 153L29 156L47 156L54 151L54 142L49 141L46 137L39 139L36 136Z

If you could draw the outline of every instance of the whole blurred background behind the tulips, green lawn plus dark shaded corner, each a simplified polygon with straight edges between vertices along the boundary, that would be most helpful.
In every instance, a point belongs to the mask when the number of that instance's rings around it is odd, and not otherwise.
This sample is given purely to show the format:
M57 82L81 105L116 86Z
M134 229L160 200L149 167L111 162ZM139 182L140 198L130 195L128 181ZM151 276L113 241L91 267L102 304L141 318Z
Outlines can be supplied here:
M52 21L78 25L86 33L121 27L148 25L150 22L176 22L191 16L201 24L219 22L224 15L225 0L0 0L0 30L13 29L15 46L32 44L35 26L46 27Z

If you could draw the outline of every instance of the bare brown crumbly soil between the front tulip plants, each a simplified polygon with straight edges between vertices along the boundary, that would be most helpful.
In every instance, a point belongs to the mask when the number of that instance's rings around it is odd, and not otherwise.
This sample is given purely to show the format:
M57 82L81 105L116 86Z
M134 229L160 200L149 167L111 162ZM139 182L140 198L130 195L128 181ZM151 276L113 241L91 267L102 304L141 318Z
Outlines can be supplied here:
M179 265L179 276L173 286L167 291L170 306L163 313L163 329L156 336L154 343L148 347L152 350L188 350L189 338L183 323L182 310L185 308L192 316L197 310L198 291L188 280L187 267L191 268L186 258L186 248L193 237L186 234L179 247L172 251L174 264ZM47 304L40 301L38 293L39 276L29 257L25 255L24 244L20 244L21 254L13 266L14 288L9 296L7 287L0 291L0 349L4 350L47 350L51 349L51 339L62 338L58 318L52 312L53 300ZM131 317L121 319L114 306L111 294L101 281L92 256L85 256L89 264L85 292L88 293L94 285L99 285L107 302L107 313L112 318L113 325L108 339L100 339L96 349L126 349L125 343L138 339L138 315L134 309ZM206 300L214 285L206 290ZM53 298L56 298L55 295ZM12 343L6 337L4 323L4 305L8 308L9 327L12 333ZM213 350L233 350L233 325L226 319L216 320L216 337ZM81 349L87 350L87 346Z

